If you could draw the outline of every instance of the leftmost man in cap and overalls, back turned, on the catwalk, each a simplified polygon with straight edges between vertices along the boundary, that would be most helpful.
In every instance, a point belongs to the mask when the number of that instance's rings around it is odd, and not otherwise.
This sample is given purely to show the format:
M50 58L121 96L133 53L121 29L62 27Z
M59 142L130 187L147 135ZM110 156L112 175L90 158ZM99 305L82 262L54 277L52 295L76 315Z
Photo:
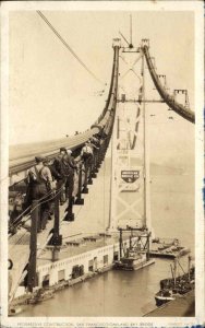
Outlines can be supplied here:
M44 157L35 157L36 165L27 172L27 181L29 189L31 202L33 200L41 199L40 204L40 218L38 220L38 232L41 232L46 227L49 215L49 196L53 189L52 176L49 167L44 165Z

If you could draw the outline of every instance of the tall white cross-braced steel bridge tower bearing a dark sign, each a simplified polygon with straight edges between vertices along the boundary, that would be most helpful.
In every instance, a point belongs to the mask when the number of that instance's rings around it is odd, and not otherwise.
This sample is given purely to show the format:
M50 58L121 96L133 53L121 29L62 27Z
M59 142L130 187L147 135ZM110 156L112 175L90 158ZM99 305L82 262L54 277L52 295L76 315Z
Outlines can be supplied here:
M128 47L120 47L111 141L110 232L124 226L152 231L144 45L149 46L148 39L136 48L131 38Z

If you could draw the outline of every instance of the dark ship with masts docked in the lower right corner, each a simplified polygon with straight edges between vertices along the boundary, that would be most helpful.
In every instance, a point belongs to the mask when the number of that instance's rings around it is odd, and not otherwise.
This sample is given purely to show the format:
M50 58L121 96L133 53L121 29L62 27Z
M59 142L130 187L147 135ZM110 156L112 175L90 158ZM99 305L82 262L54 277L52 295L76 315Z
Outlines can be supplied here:
M160 280L160 290L155 294L157 306L173 301L177 297L182 297L184 294L195 288L195 268L191 267L191 257L189 256L189 269L181 276L176 276L177 263L181 267L178 259L174 259L173 267L171 266L172 278ZM181 267L182 268L182 267Z

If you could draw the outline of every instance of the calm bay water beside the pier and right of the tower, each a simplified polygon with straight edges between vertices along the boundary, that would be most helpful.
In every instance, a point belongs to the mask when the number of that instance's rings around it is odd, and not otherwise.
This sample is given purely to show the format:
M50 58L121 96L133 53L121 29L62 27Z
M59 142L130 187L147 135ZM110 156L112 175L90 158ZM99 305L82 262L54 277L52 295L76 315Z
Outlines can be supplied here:
M150 191L155 235L177 237L194 255L193 169L179 173L154 167ZM181 263L186 269L186 258ZM21 316L143 316L155 307L159 280L170 276L170 261L166 259L156 259L140 271L109 271L60 291L43 304L27 307Z

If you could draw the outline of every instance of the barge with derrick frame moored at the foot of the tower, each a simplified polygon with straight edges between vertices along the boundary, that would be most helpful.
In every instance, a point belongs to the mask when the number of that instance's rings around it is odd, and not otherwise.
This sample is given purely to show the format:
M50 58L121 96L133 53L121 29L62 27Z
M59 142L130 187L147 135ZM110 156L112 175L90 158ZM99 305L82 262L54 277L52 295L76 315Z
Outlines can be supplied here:
M132 229L132 231L134 229ZM113 269L134 271L155 262L154 259L149 259L148 247L142 248L141 244L142 238L145 238L146 242L144 245L149 245L149 233L146 232L144 235L141 235L135 245L133 245L132 236L130 236L130 247L128 249L123 249L122 229L120 229L120 259L114 261ZM124 256L122 256L122 249Z

